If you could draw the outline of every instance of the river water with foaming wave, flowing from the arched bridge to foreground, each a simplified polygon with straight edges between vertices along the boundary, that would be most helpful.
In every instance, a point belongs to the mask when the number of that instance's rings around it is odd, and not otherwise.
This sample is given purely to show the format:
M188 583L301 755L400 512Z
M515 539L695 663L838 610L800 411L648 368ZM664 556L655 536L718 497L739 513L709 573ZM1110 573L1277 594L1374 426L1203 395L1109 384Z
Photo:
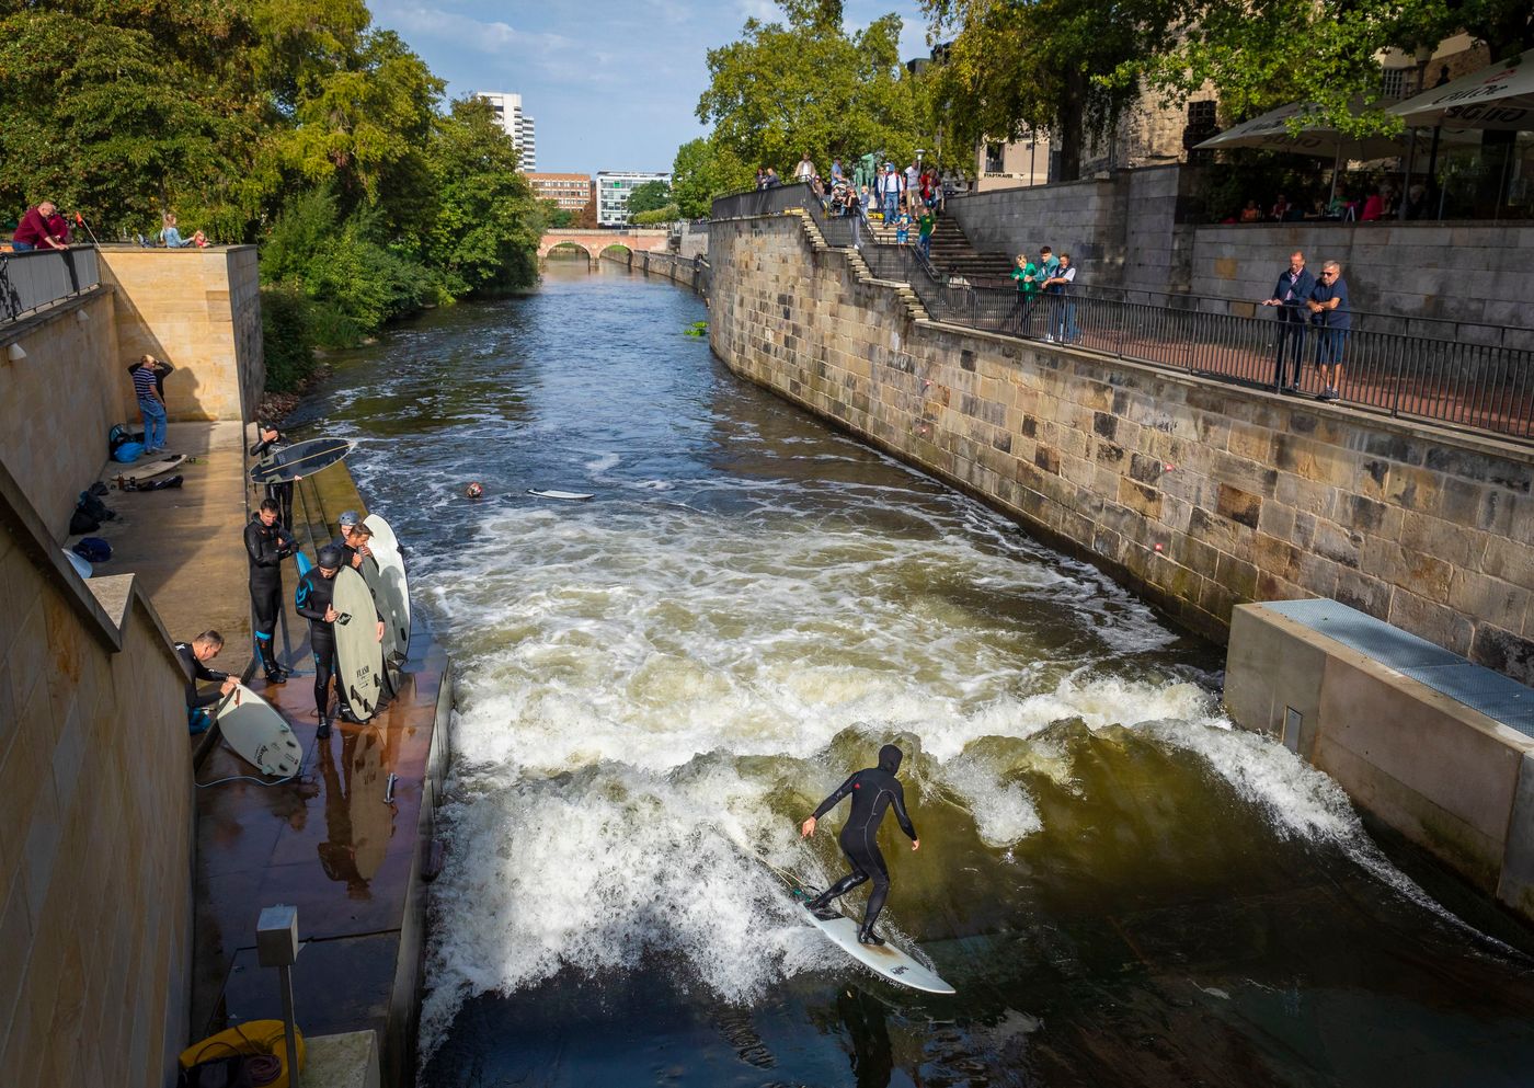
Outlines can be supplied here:
M706 316L555 265L299 414L460 669L422 1085L1534 1082L1529 961L1232 730L1216 648L738 381ZM891 740L922 849L887 821L882 928L957 997L753 858L834 879L841 816L796 824Z

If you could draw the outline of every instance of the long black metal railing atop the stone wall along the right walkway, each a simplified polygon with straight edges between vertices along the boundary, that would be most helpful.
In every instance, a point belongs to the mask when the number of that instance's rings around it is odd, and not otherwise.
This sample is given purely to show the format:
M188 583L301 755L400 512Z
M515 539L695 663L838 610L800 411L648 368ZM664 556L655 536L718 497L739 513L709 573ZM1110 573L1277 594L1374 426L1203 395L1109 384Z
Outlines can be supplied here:
M1282 348L1285 385L1305 394L1322 391L1315 362L1341 351L1338 390L1353 405L1534 437L1529 330L1358 313L1358 327L1347 331L1302 325L1296 333L1267 308L1243 299L1088 285L1025 298L1005 279L950 279L914 246L885 242L865 218L825 215L804 184L736 193L713 207L715 218L807 209L827 244L856 247L876 279L910 284L934 321L1267 388L1279 387Z

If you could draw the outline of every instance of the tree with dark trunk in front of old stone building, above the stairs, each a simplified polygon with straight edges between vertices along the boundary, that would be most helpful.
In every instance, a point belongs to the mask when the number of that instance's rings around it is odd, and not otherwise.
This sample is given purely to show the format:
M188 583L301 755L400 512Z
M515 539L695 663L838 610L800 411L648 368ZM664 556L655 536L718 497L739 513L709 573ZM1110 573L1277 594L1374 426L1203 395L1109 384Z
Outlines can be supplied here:
M1140 92L1138 64L1172 45L1184 0L922 0L933 32L957 31L931 69L953 132L1019 138L1049 130L1062 180L1081 173L1081 150L1108 132ZM1232 5L1239 11L1241 5Z

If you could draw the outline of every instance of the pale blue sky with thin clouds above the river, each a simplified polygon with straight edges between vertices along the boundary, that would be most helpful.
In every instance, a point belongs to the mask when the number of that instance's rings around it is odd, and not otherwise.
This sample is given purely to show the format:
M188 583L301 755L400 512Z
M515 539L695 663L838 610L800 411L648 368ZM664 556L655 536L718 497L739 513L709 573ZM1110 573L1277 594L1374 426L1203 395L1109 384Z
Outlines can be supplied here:
M448 81L522 94L537 121L538 170L669 170L676 147L703 135L693 110L709 83L704 54L733 41L749 15L778 18L772 0L368 0ZM927 54L916 0L847 0L850 28L896 12L902 57Z

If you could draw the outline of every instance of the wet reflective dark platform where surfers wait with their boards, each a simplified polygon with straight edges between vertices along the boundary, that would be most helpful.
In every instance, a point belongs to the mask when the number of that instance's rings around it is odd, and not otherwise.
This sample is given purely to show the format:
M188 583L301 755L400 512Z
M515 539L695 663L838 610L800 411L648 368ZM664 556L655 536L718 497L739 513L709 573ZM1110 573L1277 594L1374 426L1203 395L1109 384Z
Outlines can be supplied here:
M313 556L344 508L365 509L344 468L299 485L295 520ZM256 962L262 907L298 907L302 951L293 968L298 1022L307 1036L373 1031L384 1085L414 1082L425 887L434 809L446 770L451 672L423 617L411 634L400 691L365 726L337 723L318 740L308 625L291 608L279 657L282 684L253 680L304 746L296 781L262 786L222 744L198 766L196 947L192 1028L196 1037L281 1016L276 973ZM393 789L390 775L396 776Z

